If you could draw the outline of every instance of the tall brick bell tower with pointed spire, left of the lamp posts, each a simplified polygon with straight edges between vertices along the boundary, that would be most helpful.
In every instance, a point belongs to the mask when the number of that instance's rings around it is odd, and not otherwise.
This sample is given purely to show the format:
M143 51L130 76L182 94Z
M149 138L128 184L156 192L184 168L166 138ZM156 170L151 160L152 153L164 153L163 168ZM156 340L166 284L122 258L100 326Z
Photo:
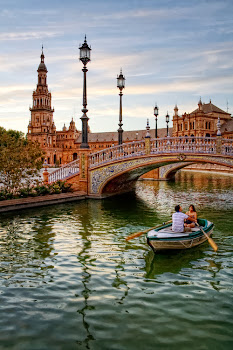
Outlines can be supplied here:
M38 66L38 82L32 94L31 120L27 137L38 141L42 148L56 147L56 127L53 121L54 109L51 107L51 92L47 85L47 67L44 63L43 46Z

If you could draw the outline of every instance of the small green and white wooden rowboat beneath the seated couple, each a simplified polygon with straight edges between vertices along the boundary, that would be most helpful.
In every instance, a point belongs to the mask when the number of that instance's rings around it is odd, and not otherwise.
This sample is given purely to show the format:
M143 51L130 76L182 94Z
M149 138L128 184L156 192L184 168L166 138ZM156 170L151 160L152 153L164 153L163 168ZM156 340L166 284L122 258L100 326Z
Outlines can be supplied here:
M210 237L214 228L214 224L206 219L198 219L197 222L200 227L191 228L191 232L178 233L172 231L171 223L163 224L147 233L147 243L154 252L196 247Z

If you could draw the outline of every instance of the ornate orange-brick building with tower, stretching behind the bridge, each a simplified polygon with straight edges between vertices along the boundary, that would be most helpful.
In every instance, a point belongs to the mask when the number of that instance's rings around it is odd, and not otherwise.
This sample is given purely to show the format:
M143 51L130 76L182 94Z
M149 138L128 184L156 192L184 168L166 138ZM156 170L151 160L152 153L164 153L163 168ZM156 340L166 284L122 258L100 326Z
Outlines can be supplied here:
M45 162L51 166L59 166L76 160L80 151L81 131L77 130L72 118L69 127L65 125L61 131L56 130L53 119L52 95L48 90L47 67L44 62L42 47L41 61L38 66L38 81L32 94L31 118L28 125L28 139L38 141L45 151ZM231 115L216 107L210 101L205 104L200 100L198 108L193 112L179 116L178 108L174 108L173 128L169 129L170 136L216 136L217 121L220 117L222 136L233 138L233 120ZM139 141L146 137L147 130L124 131L123 142ZM155 130L150 130L154 137ZM158 137L166 137L166 128L158 129ZM90 150L98 150L118 144L118 133L92 133L89 130L88 142Z

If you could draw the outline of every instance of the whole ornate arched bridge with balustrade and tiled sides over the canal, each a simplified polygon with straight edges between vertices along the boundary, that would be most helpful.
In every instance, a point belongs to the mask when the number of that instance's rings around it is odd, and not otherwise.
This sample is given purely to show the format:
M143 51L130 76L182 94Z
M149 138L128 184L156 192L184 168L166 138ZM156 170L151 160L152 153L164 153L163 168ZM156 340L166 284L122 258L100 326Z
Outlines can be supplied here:
M171 178L192 163L233 168L233 140L217 137L166 137L125 143L91 153L80 149L77 160L49 175L49 182L66 179L91 198L134 189L138 178L159 168L159 179Z

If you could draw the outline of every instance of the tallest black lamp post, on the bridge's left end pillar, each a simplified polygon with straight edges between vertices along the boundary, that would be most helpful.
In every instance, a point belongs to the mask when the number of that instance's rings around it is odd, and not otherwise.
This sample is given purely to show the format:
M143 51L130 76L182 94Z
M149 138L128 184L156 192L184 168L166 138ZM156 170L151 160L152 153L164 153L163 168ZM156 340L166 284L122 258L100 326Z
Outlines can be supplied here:
M87 84L86 84L86 73L88 71L86 65L91 60L91 48L87 44L86 35L84 39L84 43L82 46L79 47L80 50L80 56L79 59L83 63L83 115L80 118L82 120L82 143L80 145L80 148L89 148L88 145L88 116L86 113L88 112L87 109Z

